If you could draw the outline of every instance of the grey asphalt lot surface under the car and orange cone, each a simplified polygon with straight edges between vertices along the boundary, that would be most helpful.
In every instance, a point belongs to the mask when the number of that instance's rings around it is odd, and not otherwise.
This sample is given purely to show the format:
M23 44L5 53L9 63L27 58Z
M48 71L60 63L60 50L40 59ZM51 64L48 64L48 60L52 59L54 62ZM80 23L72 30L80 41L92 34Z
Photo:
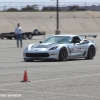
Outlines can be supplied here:
M41 36L23 40L0 40L0 100L100 100L100 35L93 60L23 61L23 49ZM48 35L47 35L48 37ZM93 39L93 38L92 38ZM23 80L27 71L30 82Z

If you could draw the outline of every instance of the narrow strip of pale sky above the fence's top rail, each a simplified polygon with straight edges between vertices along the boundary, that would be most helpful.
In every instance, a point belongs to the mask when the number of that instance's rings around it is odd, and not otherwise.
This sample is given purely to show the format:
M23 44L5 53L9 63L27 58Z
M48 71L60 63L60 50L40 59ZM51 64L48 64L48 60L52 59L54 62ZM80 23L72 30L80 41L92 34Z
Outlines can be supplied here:
M0 2L55 2L56 0L0 0ZM59 2L100 2L100 0L59 0Z

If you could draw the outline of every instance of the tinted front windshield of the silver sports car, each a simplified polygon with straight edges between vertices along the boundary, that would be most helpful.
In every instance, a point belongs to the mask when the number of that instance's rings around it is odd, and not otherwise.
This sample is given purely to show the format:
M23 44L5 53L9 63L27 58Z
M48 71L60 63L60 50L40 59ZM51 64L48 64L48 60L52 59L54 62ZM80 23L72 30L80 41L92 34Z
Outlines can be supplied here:
M46 40L43 41L43 43L59 43L59 44L64 44L64 43L70 43L71 41L71 36L51 36L47 38Z

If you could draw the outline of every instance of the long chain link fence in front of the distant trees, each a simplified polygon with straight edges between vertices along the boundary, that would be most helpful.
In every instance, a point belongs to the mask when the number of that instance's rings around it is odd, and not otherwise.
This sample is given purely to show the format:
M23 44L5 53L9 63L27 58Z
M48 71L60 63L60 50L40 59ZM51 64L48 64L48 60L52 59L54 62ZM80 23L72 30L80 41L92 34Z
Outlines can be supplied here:
M98 2L59 2L59 9L62 11L68 11L73 6L90 11L100 11ZM56 2L0 2L0 11L26 11L24 8L28 11L43 11L44 8L56 10Z

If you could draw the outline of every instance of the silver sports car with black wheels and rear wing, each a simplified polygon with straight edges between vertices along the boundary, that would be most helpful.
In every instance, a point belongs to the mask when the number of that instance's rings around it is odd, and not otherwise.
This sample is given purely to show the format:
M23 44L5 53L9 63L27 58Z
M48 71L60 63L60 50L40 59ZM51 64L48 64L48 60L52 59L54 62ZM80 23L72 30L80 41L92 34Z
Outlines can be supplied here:
M96 38L97 35L53 35L43 42L29 44L23 51L24 61L93 59L96 43L86 37Z

